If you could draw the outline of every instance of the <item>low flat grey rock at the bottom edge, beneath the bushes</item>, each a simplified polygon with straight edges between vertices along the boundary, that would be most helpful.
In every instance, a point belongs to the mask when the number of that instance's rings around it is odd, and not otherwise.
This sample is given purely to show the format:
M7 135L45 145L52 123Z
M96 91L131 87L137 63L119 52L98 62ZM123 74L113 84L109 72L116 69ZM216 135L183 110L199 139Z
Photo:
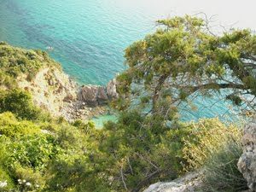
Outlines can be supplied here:
M172 182L151 184L143 192L195 192L201 186L201 173L189 173Z

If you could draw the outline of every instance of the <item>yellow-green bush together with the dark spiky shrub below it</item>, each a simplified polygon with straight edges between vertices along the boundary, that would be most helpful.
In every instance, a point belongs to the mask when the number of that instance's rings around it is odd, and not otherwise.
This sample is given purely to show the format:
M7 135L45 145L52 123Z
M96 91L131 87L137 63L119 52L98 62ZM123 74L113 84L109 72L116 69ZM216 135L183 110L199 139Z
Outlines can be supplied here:
M226 126L217 119L200 120L185 139L183 148L185 171L201 169L203 184L198 191L240 192L247 182L237 168L242 153L241 130Z

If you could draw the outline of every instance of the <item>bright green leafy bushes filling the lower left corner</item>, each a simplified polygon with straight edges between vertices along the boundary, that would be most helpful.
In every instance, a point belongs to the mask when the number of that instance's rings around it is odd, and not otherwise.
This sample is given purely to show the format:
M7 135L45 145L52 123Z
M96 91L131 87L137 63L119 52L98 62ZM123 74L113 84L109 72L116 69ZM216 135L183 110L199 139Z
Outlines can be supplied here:
M0 114L0 182L6 180L8 183L4 189L41 191L45 183L61 173L60 166L56 172L49 167L62 161L73 165L75 160L88 158L93 148L90 136L95 135L94 131L91 124L76 127L65 121L46 123L16 119L12 113ZM65 171L67 169L62 172ZM52 189L58 186L56 180L53 181Z

